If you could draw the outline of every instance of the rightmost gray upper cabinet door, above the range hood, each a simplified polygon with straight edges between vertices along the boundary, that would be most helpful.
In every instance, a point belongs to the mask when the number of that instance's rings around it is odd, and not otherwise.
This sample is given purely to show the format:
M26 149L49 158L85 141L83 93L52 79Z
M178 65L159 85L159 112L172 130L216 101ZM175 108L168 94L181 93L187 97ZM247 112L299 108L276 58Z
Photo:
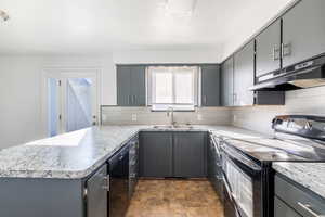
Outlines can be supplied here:
M283 66L325 52L325 1L302 0L283 16Z

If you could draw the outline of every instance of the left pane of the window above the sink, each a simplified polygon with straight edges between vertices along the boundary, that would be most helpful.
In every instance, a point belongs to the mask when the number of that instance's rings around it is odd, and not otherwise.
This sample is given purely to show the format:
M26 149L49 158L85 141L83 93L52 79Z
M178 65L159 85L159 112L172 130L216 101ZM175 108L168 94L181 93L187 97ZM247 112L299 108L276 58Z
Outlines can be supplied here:
M172 74L170 72L156 73L155 103L172 103Z

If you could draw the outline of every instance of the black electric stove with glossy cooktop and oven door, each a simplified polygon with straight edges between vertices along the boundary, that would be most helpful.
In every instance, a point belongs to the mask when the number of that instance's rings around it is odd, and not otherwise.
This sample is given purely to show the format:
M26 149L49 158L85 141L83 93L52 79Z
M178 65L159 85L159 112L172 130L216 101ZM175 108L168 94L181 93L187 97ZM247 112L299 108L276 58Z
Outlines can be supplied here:
M273 217L273 162L325 162L325 118L277 116L274 138L222 142L225 217Z

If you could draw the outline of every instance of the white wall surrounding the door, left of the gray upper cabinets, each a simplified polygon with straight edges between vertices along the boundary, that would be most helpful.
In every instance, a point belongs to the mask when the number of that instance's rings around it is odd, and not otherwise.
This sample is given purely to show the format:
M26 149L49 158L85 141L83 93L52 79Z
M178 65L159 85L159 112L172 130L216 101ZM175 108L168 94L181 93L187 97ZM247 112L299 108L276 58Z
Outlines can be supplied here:
M105 56L0 56L0 149L44 138L41 78L44 67L101 67L101 104L116 103L115 67Z

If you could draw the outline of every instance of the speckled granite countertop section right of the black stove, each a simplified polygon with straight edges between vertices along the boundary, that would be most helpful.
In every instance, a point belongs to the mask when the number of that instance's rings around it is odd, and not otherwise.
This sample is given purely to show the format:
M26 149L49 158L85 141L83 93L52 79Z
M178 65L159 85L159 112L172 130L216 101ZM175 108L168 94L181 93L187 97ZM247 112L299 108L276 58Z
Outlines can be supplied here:
M325 163L274 163L273 168L325 199Z

